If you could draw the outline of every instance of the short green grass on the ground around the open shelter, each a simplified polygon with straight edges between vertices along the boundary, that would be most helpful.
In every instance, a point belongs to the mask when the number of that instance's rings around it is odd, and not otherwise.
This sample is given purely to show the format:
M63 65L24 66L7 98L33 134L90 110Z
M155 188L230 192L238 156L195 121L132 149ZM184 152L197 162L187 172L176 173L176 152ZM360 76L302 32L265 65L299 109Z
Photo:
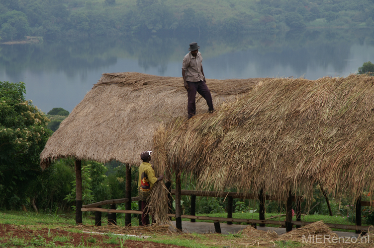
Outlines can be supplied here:
M266 218L272 217L277 214L267 214ZM226 217L225 214L210 214L215 217ZM245 218L245 219L258 219L258 213L234 213L233 218ZM283 217L277 217L273 220L282 220ZM284 218L283 218L284 219ZM346 218L336 216L324 216L324 215L305 215L303 216L304 221L319 221L323 220L325 223L339 223L339 224L350 224L354 223L347 222ZM54 214L43 214L34 212L18 212L18 211L2 211L0 212L0 247L150 247L144 245L144 240L129 236L118 236L118 230L122 229L122 233L130 231L123 230L124 218L117 218L118 226L110 227L106 226L107 220L104 217L102 219L103 226L100 228L94 227L94 216L84 215L83 226L75 225L74 213L54 213ZM189 220L184 220L189 221ZM8 231L6 231L5 224L8 225ZM140 231L138 227L138 219L132 218L131 232L139 233L142 235L151 236L149 241L152 244L164 244L162 247L173 247L183 246L190 248L212 248L212 247L245 247L243 244L247 244L248 237L243 236L239 233L236 235L218 235L218 234L178 234L170 232L164 229L164 232L155 231L150 228L149 232ZM9 226L16 227L18 230L24 230L24 233L28 233L28 236L9 235ZM44 236L42 234L44 230ZM57 230L57 231L56 231ZM59 230L64 230L67 233L61 234ZM98 238L97 236L90 236L84 231L92 230L93 232L104 232L106 235L104 238ZM1 232L7 232L8 236L1 236ZM37 233L37 232L40 232ZM12 232L10 232L12 233ZM74 243L75 240L79 240L80 243ZM77 238L80 237L80 238ZM124 238L125 237L125 238ZM126 240L126 243L124 243ZM243 241L247 243L243 243ZM85 243L86 242L86 243ZM132 242L132 243L130 243ZM126 244L126 245L124 245ZM249 244L249 243L248 243ZM247 245L248 245L247 244ZM272 243L273 244L273 243ZM305 244L294 241L274 241L272 246L261 246L261 247L305 247Z

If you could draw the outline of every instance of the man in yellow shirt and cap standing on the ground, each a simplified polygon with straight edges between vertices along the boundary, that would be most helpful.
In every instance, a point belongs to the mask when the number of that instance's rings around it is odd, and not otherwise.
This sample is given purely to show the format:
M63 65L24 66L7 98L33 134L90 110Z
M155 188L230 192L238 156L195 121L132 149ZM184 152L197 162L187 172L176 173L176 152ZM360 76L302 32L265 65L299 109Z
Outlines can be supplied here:
M148 197L151 194L151 190L153 185L158 181L164 179L164 176L160 176L156 178L155 171L153 167L149 163L151 161L151 153L152 151L142 152L140 154L140 158L143 160L143 163L140 164L139 167L139 182L138 182L138 192L142 208L142 223L139 223L139 226L147 226L149 225L149 215L146 214L147 212L147 205L148 205Z

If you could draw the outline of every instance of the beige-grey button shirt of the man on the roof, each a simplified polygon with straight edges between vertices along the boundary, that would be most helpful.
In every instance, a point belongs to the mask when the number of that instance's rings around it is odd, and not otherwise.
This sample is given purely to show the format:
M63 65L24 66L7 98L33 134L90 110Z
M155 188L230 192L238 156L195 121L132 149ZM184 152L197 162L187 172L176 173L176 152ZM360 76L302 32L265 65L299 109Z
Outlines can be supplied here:
M183 58L182 69L186 71L186 81L198 82L204 80L204 75L201 73L202 57L200 52L197 52L196 58L189 52Z

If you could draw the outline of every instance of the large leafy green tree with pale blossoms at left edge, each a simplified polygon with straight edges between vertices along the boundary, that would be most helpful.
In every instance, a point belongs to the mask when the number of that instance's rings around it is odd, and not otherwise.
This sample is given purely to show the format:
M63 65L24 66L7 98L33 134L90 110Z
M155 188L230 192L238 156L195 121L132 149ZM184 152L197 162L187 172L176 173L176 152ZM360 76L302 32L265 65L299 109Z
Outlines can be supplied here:
M0 207L25 204L36 190L39 155L52 133L24 93L23 82L0 82Z

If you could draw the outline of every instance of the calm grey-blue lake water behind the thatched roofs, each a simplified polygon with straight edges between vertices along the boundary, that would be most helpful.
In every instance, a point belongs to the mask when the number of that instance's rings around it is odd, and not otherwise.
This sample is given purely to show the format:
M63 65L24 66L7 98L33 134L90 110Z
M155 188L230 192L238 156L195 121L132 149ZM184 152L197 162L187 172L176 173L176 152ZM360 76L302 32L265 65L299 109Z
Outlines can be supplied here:
M0 46L0 81L26 84L26 99L43 112L69 112L105 72L182 76L196 41L207 78L348 76L374 62L374 29L303 30L232 37L88 39Z

